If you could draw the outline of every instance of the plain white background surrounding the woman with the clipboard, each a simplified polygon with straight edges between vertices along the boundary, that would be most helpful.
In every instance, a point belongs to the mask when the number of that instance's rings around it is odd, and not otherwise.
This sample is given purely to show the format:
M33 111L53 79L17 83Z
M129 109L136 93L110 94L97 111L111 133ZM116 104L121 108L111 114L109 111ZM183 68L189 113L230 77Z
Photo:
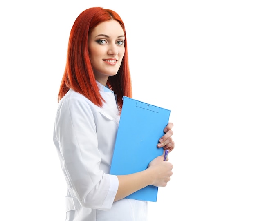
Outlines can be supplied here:
M0 219L65 219L52 142L57 94L74 20L102 6L126 25L133 98L171 109L173 176L148 220L255 221L253 3L2 1Z

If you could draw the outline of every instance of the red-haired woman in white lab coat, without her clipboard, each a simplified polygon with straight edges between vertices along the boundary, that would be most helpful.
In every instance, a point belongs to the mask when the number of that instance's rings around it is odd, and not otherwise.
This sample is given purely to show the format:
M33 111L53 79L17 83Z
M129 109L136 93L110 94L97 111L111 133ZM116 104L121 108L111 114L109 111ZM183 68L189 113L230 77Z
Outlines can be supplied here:
M173 165L163 156L144 171L109 174L123 96L132 96L124 24L112 10L87 9L70 32L54 125L68 221L146 221L148 203L124 197L170 180ZM173 150L172 127L164 128L159 148Z

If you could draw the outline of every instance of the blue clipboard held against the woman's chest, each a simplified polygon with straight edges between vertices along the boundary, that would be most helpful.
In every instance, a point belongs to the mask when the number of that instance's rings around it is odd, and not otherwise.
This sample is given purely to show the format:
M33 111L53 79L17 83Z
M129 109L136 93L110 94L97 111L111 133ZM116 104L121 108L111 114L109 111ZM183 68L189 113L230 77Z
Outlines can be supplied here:
M123 97L110 174L126 175L146 170L150 161L163 154L163 149L157 148L157 144L164 135L170 112ZM157 192L158 187L149 185L126 198L156 202Z

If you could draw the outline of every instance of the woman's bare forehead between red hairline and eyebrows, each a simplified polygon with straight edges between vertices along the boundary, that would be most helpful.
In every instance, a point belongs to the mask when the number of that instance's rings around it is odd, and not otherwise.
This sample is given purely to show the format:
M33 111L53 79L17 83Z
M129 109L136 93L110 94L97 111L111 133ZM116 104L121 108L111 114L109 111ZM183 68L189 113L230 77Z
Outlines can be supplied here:
M124 35L124 31L119 22L117 22L116 20L109 20L99 23L99 25L92 29L91 35L97 36L99 34L106 34L109 36L121 36Z

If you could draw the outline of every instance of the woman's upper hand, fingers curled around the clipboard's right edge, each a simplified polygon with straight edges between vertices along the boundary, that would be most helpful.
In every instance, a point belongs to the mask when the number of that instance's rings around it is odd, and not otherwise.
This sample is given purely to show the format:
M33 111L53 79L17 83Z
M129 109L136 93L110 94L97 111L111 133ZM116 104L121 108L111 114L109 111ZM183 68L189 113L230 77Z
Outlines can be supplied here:
M162 136L159 139L159 143L157 144L157 147L163 147L164 150L169 149L169 151L172 151L174 149L174 141L171 137L173 135L173 123L168 123L168 125L164 128L164 136Z

